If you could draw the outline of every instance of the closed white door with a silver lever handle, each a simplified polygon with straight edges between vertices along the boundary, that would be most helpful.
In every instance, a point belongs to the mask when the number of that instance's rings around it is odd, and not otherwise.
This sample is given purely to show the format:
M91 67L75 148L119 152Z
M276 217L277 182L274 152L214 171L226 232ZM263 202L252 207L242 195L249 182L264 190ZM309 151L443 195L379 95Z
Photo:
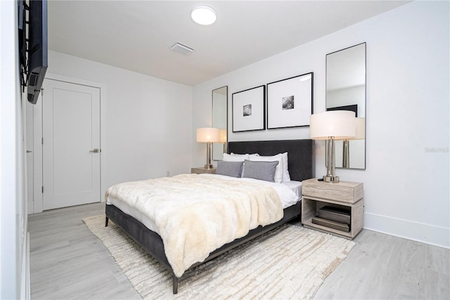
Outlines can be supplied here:
M44 81L43 208L101 201L100 89Z

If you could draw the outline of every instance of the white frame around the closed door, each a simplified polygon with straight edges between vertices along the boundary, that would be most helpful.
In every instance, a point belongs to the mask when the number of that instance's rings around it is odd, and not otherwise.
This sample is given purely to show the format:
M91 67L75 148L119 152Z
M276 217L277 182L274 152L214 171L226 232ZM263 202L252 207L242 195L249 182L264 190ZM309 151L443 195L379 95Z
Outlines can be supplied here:
M46 73L46 79L57 80L61 82L68 82L75 85L86 85L88 87L96 87L100 89L100 146L101 146L101 156L100 156L100 199L101 202L104 202L105 199L102 196L106 191L106 156L108 155L108 151L106 151L106 85L100 82L93 82L90 80L83 80L75 77L69 77L65 75L59 75L54 73ZM44 81L45 85L45 81ZM45 94L45 90L43 89L43 94ZM33 143L33 151L34 151L34 210L33 213L41 213L44 207L44 199L42 196L42 101L38 101L36 106L33 109L34 116L34 143Z

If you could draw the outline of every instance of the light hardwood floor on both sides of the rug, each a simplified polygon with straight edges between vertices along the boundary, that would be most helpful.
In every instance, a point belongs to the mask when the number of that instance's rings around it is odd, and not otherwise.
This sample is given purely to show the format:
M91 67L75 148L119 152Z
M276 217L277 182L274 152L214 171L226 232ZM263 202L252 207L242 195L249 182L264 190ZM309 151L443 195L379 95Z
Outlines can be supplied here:
M141 299L82 222L104 207L29 215L32 299ZM450 299L449 249L369 230L354 242L314 299Z

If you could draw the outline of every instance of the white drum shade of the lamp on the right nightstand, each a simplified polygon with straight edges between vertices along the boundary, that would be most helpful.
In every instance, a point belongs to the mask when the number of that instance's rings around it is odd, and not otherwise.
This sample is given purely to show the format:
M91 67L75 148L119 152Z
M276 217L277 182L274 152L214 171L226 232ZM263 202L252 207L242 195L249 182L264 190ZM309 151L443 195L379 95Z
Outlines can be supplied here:
M354 111L326 111L309 118L311 139L352 139L355 137Z

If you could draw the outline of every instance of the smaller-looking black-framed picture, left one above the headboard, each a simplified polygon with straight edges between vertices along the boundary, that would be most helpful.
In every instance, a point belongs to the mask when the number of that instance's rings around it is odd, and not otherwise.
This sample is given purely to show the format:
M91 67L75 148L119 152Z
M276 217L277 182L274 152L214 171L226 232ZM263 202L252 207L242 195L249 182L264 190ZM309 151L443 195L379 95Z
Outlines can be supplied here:
M233 132L266 129L264 85L231 95Z

